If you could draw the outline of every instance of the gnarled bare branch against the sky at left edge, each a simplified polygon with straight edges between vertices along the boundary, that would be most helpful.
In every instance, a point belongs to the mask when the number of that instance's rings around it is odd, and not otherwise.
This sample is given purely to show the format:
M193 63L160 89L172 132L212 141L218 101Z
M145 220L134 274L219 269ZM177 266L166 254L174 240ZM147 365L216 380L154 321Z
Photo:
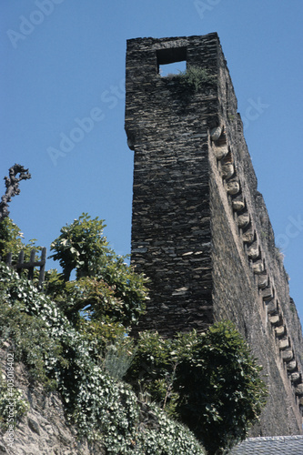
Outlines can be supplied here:
M19 177L17 177L18 174ZM19 182L21 182L21 180L27 180L31 177L32 176L28 172L28 169L25 169L25 167L21 165L15 164L9 168L9 177L5 177L5 195L1 197L0 202L0 223L9 215L8 203L11 202L12 197L20 194Z

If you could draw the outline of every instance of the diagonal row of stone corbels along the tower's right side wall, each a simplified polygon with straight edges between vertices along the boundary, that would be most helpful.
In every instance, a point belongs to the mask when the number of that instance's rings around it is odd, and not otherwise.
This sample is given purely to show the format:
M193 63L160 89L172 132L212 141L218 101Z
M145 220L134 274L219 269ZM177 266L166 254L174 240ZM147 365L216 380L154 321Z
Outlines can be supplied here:
M281 359L286 363L288 377L295 388L299 404L303 407L302 373L298 370L298 362L295 359L285 319L281 308L279 308L278 300L275 298L275 287L271 284L273 280L269 277L265 259L262 258L257 229L253 227L253 219L247 210L245 197L241 195L241 184L237 176L237 167L231 150L227 145L224 126L213 128L210 132L210 137L214 154L217 161L221 163L221 176L225 181L227 194L230 195L231 207L234 214L237 214L237 227L241 230L247 258L258 284L258 292L267 308L268 320L275 331Z

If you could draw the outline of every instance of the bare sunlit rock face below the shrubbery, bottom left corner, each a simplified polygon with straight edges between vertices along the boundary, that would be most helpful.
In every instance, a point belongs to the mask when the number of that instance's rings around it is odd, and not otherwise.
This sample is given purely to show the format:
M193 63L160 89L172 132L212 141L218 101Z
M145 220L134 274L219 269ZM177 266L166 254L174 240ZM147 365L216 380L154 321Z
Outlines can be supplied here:
M6 350L0 349L0 374L5 372ZM67 424L60 396L33 387L22 363L14 365L14 387L22 390L29 403L28 412L16 420L14 442L9 446L7 433L0 431L0 453L7 455L105 455L101 445L79 441L76 429ZM2 450L2 451L1 451Z

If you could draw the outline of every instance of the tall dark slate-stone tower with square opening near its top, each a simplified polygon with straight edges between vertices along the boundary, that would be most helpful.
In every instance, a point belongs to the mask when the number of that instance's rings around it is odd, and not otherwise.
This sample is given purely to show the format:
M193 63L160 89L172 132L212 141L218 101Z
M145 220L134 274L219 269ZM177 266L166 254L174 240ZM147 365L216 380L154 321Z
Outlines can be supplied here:
M178 61L191 79L159 74ZM268 375L251 434L301 433L301 326L217 34L127 41L126 135L132 263L150 278L138 330L169 337L234 321Z

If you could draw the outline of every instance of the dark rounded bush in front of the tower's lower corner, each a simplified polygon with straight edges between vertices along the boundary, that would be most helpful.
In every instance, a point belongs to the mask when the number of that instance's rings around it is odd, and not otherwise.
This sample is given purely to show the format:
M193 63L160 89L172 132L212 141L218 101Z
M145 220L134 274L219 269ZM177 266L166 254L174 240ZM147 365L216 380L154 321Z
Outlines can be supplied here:
M186 348L174 384L177 413L210 454L227 450L245 439L265 404L261 367L230 321L212 326Z

